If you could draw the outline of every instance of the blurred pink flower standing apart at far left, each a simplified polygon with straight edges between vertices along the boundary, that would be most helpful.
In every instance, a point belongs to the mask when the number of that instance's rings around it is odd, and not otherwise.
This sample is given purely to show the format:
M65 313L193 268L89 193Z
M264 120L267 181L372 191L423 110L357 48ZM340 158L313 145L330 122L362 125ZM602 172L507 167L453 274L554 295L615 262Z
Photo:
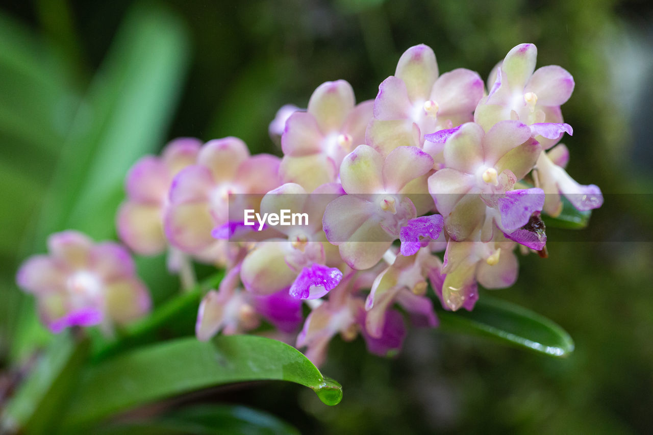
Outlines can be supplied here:
M93 244L82 233L64 231L50 236L48 250L50 255L27 259L16 282L37 297L41 319L52 332L101 325L110 333L114 324L149 312L150 294L119 244Z

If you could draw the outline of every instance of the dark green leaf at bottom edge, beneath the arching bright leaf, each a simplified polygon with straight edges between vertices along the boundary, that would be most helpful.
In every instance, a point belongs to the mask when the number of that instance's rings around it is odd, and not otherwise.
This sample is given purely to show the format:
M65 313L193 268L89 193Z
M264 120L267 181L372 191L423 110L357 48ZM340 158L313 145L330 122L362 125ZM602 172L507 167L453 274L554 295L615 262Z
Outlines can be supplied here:
M183 408L154 421L136 421L93 430L97 435L276 435L299 434L274 415L244 406L199 405Z

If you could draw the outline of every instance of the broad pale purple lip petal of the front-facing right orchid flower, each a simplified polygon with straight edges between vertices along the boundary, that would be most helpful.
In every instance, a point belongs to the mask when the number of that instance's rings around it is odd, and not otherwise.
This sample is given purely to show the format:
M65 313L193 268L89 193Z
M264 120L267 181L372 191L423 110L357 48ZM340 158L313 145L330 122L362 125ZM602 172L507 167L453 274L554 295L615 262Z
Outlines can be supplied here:
M537 187L507 191L498 200L503 229L513 231L526 225L534 212L542 210L544 200L544 191Z

